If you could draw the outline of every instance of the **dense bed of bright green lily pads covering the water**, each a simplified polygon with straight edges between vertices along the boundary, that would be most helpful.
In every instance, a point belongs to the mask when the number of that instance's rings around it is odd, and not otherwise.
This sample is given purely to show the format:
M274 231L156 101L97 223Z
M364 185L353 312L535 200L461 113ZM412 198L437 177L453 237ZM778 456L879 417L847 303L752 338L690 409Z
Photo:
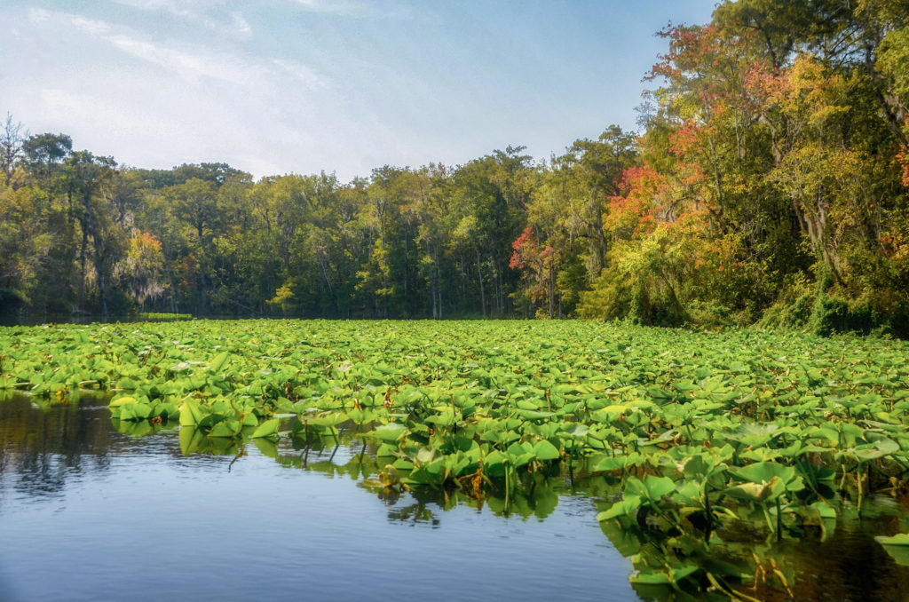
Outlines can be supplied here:
M185 453L363 441L365 487L501 512L587 487L636 587L787 597L781 549L879 515L909 565L909 345L589 322L205 321L0 328L0 393L105 392ZM529 500L529 501L528 501ZM648 592L650 590L647 590ZM648 595L650 595L648 593Z

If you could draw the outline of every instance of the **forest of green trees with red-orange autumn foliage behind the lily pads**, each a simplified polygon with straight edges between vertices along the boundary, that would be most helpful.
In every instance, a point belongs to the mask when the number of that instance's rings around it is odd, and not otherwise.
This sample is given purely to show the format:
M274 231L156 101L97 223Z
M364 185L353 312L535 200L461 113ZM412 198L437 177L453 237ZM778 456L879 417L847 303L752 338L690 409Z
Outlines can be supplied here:
M637 131L258 181L0 125L0 315L628 319L909 336L909 2L667 25ZM263 132L267 136L267 132Z

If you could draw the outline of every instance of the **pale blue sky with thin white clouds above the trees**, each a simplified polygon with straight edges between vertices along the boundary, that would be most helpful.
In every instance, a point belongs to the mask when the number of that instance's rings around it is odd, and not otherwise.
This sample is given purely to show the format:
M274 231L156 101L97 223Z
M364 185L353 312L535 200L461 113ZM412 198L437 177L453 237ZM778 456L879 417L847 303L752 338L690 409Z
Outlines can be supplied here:
M633 130L715 0L0 0L0 116L121 165L255 178L548 159Z

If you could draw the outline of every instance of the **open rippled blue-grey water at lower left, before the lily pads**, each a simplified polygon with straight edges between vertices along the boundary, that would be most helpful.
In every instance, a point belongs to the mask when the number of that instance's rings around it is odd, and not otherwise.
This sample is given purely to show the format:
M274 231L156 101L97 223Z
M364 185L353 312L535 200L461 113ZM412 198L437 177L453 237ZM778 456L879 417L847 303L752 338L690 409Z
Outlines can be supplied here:
M175 430L121 435L105 406L0 402L0 600L639 599L588 498L543 521L389 506L245 449L184 457Z

